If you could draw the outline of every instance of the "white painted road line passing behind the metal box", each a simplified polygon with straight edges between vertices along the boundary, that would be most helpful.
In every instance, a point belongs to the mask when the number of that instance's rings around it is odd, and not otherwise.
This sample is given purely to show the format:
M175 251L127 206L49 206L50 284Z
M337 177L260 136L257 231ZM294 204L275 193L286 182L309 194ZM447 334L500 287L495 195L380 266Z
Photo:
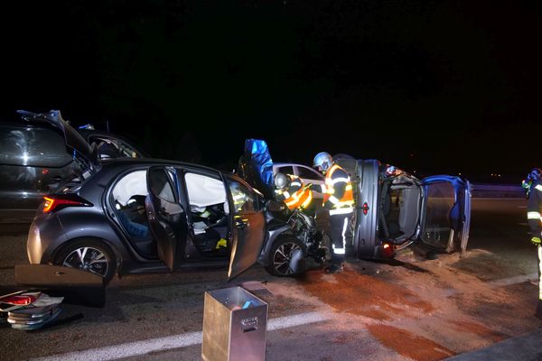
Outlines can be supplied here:
M314 322L321 322L329 319L320 312L306 312L292 316L269 319L267 331L276 329L287 329L294 326L306 325ZM126 344L100 347L67 354L33 358L33 361L108 361L118 358L146 355L154 351L164 351L173 348L188 347L201 344L202 332L184 333L181 335L169 336L166 338L153 338Z

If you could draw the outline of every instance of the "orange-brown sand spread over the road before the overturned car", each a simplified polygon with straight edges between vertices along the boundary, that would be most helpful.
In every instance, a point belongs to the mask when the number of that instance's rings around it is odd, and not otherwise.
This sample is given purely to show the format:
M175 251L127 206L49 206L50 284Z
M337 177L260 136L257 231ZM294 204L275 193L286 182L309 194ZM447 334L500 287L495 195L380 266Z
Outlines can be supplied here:
M462 264L471 262L477 270L481 255L491 258L477 250L463 255ZM441 255L416 262L411 256L403 257L399 266L352 263L344 273L313 271L298 281L305 292L345 318L344 327L353 336L334 343L359 342L369 331L383 347L419 361L488 347L540 327L532 317L535 286L492 287L479 274L456 268L459 259Z

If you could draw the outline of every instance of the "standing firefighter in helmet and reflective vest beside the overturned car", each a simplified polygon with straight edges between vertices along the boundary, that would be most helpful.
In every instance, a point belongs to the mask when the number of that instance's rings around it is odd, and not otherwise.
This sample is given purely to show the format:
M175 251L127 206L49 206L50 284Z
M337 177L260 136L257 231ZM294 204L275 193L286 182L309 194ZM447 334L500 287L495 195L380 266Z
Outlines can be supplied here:
M332 238L332 264L325 268L326 273L341 273L346 258L346 239L350 232L350 220L354 212L354 198L350 175L341 166L333 162L330 153L318 153L314 157L313 167L325 175L320 187L323 194L323 208L330 215L330 228ZM318 190L314 188L314 190Z

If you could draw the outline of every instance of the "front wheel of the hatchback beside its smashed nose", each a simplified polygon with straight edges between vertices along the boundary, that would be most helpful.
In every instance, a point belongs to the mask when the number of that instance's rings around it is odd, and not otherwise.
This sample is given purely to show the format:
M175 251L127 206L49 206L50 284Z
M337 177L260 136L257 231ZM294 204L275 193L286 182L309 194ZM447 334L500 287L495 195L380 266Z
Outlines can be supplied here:
M290 260L296 250L300 250L303 256L306 255L304 244L296 237L283 236L278 238L271 247L266 271L279 277L294 277L304 273L303 262L295 271L290 268Z

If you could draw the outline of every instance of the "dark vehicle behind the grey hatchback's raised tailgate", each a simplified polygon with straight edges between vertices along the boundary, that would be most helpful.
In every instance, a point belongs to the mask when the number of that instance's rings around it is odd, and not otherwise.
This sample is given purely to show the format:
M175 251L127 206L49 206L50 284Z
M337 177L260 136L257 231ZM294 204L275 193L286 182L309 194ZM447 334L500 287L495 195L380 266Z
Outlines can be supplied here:
M42 197L80 168L66 147L61 114L19 111L21 119L0 123L0 222L30 223ZM80 129L99 157L145 155L126 139ZM90 145L86 147L90 147Z

